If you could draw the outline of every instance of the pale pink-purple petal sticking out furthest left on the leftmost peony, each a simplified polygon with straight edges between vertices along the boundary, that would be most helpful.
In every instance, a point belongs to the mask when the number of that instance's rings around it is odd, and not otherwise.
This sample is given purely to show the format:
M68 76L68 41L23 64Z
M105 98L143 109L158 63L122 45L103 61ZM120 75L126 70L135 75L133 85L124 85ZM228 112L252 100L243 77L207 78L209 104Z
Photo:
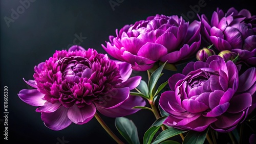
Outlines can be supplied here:
M42 98L45 97L45 94L37 91L37 89L20 90L18 97L31 106L43 106L46 103L46 101L42 100Z

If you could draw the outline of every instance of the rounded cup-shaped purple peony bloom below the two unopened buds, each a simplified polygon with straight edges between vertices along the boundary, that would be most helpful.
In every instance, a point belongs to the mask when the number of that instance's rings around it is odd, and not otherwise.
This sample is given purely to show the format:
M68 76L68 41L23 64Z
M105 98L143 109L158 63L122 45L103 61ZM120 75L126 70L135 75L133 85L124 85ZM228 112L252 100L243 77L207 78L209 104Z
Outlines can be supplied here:
M256 68L240 77L237 66L217 55L206 62L188 63L183 74L169 78L170 91L159 105L169 113L164 124L182 130L204 131L208 126L230 132L255 108Z

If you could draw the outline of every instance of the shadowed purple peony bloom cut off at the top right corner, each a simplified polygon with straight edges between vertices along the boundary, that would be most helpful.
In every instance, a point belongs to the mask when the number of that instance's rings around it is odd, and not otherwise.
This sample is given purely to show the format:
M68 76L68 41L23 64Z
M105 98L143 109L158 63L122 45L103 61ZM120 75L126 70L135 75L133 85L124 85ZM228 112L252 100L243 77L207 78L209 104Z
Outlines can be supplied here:
M230 8L225 14L217 9L210 21L204 14L201 21L202 36L218 51L235 52L240 62L256 66L256 15L246 9Z

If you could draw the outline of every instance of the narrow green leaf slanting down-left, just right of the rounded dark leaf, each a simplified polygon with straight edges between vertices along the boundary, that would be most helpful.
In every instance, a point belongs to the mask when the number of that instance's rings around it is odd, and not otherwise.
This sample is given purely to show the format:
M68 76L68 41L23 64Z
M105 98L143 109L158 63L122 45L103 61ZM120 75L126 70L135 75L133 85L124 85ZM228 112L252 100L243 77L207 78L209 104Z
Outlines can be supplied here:
M162 126L164 120L166 119L166 116L160 117L158 118L153 124L152 126L145 132L144 137L143 137L143 143L151 143L154 135L156 134L156 132L160 129L160 127Z

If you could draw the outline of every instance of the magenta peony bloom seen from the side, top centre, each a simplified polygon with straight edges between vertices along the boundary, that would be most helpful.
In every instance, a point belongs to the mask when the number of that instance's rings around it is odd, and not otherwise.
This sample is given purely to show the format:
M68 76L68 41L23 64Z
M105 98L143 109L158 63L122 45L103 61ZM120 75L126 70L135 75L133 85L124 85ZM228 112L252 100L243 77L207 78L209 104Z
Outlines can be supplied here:
M193 56L201 44L200 22L185 22L177 15L156 15L146 20L126 25L103 49L112 57L132 64L132 68L144 71L162 61L176 63Z

